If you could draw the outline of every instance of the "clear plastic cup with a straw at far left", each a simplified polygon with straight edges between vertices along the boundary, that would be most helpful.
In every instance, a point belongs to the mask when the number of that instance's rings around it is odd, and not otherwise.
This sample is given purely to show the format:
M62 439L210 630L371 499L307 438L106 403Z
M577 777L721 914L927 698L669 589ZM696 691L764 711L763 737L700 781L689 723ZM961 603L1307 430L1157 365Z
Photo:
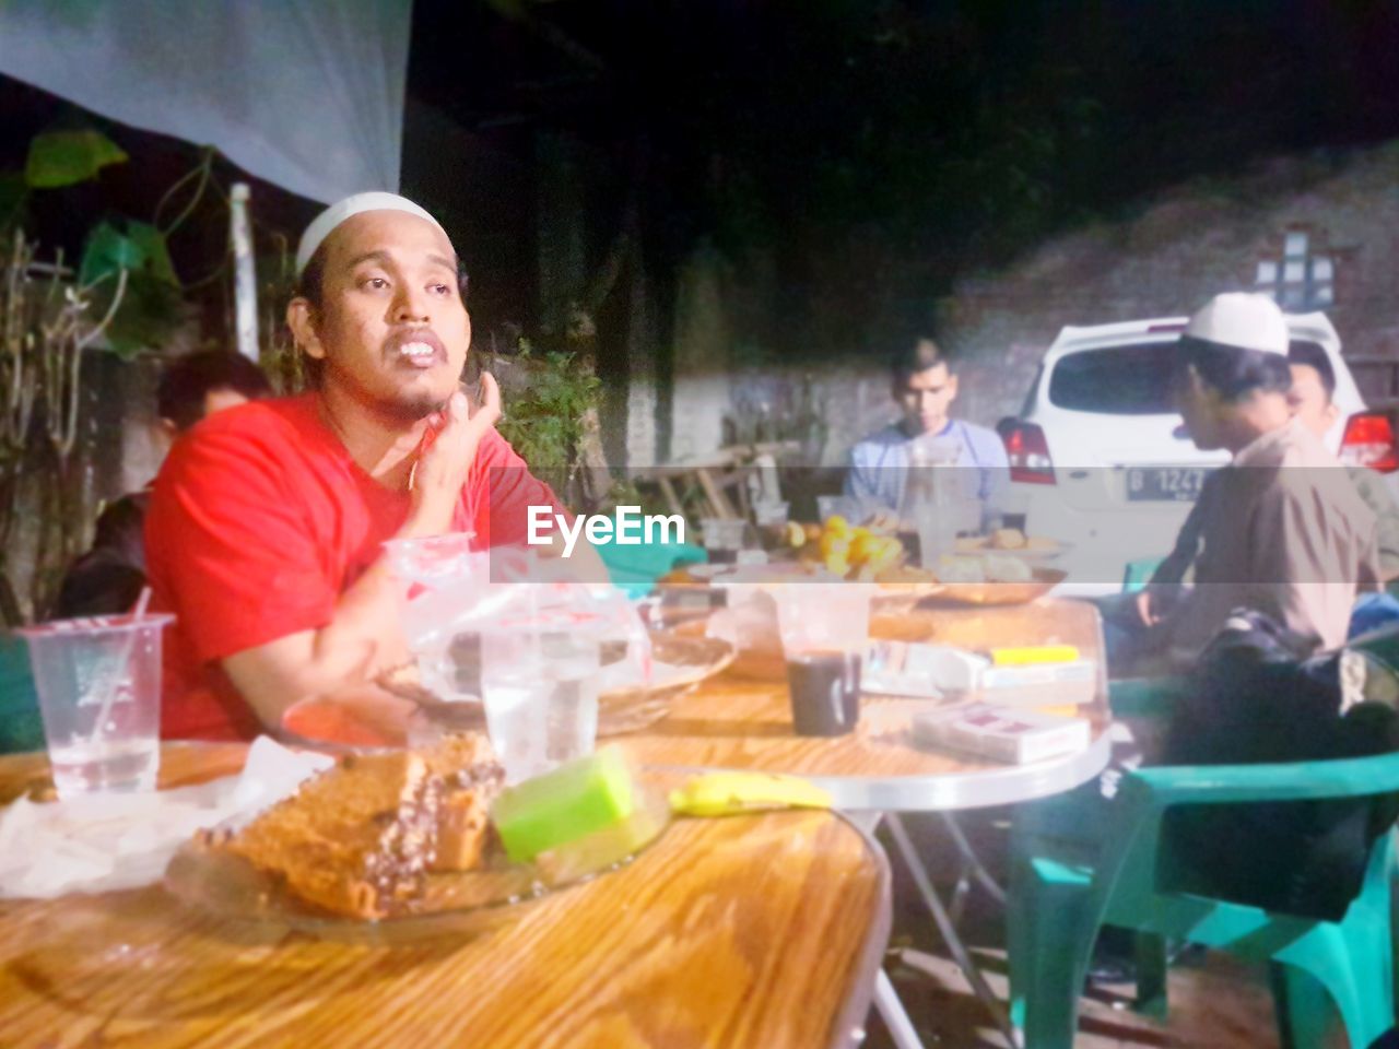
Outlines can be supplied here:
M173 618L62 620L20 631L60 797L155 789L161 632Z

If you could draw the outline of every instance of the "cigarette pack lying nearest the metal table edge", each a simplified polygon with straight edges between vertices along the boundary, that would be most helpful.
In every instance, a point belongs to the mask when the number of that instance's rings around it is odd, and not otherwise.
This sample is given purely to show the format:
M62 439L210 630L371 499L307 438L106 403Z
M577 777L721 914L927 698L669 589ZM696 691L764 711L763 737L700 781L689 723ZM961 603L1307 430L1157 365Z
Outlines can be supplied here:
M1083 718L972 704L916 716L914 740L922 745L1024 765L1086 748L1090 726Z

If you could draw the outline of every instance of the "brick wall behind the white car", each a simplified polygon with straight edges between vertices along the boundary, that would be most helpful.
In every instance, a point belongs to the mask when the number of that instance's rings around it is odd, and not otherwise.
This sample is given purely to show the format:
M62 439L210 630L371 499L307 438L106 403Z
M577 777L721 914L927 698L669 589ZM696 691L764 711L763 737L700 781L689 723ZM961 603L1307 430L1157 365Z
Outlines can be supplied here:
M1181 186L1119 222L1045 243L1002 273L961 281L940 304L958 352L961 411L1014 414L1065 324L1185 315L1252 288L1288 231L1335 267L1326 308L1347 355L1399 362L1399 143L1273 161L1233 180ZM1379 369L1357 368L1371 399Z

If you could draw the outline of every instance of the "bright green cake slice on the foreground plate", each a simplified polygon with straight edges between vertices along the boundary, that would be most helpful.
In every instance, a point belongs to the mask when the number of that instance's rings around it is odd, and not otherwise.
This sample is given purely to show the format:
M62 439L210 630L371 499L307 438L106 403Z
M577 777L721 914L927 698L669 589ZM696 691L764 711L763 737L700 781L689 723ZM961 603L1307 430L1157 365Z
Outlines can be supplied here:
M506 787L491 820L515 863L529 863L579 838L630 818L637 807L631 766L616 747L569 761Z

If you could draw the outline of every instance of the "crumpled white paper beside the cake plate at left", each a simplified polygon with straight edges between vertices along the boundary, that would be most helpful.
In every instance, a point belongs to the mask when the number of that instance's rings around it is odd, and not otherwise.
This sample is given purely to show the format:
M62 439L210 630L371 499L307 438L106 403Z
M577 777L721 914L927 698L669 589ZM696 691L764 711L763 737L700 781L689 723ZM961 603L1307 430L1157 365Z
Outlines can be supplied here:
M144 794L88 794L0 810L0 898L108 892L159 881L194 831L252 817L334 764L260 736L236 776Z

